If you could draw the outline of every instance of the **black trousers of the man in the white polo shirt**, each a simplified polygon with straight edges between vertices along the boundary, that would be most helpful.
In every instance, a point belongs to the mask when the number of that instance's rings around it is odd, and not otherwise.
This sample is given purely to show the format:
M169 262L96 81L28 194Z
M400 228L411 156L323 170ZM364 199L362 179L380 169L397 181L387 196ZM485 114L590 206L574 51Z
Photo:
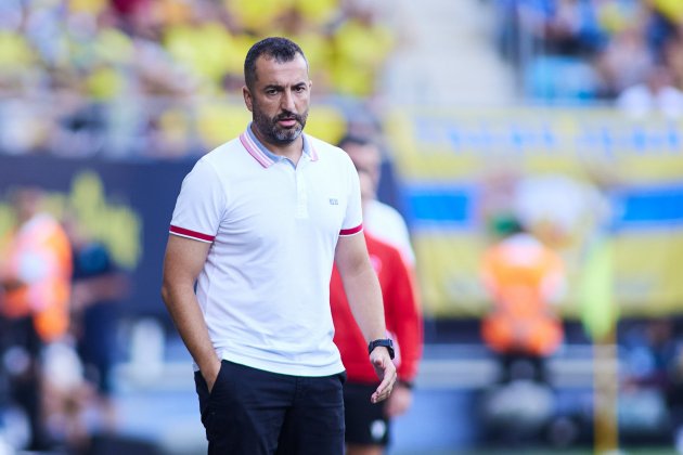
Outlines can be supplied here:
M346 374L301 377L221 362L194 375L209 455L343 455Z

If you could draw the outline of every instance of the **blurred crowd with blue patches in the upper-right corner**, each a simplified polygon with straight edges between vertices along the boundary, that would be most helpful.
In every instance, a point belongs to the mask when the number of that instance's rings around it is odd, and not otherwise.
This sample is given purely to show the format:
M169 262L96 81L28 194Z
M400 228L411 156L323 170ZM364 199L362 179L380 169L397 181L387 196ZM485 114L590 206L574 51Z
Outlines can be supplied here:
M648 81L683 84L675 0L499 3L499 47L532 98L611 101Z

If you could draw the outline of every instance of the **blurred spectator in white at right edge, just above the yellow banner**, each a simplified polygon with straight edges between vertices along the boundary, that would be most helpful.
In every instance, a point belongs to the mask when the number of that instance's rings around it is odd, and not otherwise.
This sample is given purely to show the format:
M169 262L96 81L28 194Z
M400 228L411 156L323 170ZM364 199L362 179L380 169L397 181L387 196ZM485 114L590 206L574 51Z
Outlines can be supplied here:
M655 65L642 83L623 90L616 101L617 108L630 117L661 115L678 119L683 115L683 91L673 86L671 70Z

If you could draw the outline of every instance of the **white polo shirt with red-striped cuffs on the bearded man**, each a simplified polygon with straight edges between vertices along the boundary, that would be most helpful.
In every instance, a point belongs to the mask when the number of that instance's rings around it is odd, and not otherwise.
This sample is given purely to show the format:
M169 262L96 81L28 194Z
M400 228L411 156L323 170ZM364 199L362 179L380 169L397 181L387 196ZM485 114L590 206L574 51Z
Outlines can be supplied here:
M219 356L298 376L344 370L330 276L339 235L361 231L358 174L344 151L304 135L295 167L249 127L197 161L170 226L211 243L196 294Z

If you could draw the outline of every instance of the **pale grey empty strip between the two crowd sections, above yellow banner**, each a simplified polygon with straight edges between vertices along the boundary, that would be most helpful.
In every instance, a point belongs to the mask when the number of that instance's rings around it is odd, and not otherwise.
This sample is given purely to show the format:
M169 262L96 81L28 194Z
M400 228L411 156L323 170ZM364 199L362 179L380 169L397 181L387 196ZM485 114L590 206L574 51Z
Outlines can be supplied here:
M384 74L398 105L506 105L517 100L514 72L494 46L493 4L401 2L402 41Z

